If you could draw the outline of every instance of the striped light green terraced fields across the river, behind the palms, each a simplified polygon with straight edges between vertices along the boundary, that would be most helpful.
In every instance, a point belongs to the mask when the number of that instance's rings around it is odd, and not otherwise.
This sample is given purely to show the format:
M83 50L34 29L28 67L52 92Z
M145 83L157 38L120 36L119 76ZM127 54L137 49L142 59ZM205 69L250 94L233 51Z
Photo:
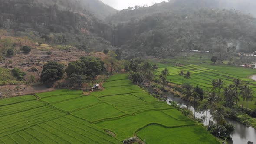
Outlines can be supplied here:
M255 98L253 101L248 103L248 107L253 109L255 108L254 103L256 102L256 82L250 79L251 75L256 74L256 69L248 69L242 67L235 66L227 66L227 65L184 65L184 66L174 66L172 64L157 64L159 66L158 74L167 68L170 72L170 76L167 77L168 80L171 80L172 83L181 85L182 78L179 75L181 70L191 72L191 79L186 79L183 77L183 83L189 82L192 85L200 86L204 90L207 90L212 87L211 82L214 79L221 78L225 85L231 84L233 79L239 78L243 80L243 83L250 85L251 88L255 91ZM242 98L241 98L242 99ZM239 102L242 105L242 101Z

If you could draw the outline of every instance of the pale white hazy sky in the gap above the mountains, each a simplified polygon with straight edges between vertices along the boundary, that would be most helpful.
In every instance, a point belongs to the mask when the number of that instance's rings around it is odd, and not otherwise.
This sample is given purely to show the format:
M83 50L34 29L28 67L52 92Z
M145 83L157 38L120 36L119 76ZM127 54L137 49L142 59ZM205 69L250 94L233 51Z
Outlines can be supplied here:
M101 0L103 3L114 7L117 10L123 10L128 7L134 7L135 5L143 6L144 4L152 5L154 3L160 3L167 0Z

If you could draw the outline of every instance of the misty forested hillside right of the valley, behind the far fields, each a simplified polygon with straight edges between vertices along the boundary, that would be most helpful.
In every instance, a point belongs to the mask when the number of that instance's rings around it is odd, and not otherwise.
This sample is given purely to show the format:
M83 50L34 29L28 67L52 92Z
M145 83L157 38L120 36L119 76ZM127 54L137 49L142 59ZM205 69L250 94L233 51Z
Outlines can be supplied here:
M256 19L238 10L211 8L214 1L171 0L151 7L122 10L112 44L127 56L172 56L182 49L211 52L256 50ZM133 49L131 51L131 49Z

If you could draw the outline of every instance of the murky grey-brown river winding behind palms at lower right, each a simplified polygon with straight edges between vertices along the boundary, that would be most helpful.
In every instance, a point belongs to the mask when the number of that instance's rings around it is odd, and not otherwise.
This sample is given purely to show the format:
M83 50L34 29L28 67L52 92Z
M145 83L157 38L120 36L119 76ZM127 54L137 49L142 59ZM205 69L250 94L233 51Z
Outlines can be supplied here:
M168 101L176 101L179 105L183 107L187 107L187 101L182 100L179 97L174 97L173 95L168 96ZM167 103L168 103L167 101ZM194 108L192 106L188 107L190 110L194 111ZM197 113L196 112L196 117L201 118L205 113ZM248 141L256 143L256 130L252 127L246 127L246 125L230 119L226 118L226 121L234 124L235 130L231 134L232 141L230 141L230 144L247 144ZM209 111L207 111L207 124L209 122Z

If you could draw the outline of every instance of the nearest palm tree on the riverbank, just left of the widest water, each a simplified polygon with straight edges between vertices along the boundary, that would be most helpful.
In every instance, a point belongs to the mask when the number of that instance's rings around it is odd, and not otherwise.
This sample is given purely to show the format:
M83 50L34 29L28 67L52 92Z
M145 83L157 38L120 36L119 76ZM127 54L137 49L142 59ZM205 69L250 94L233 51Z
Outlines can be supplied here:
M225 116L228 116L226 114L225 108L218 106L213 111L213 120L217 123L217 129L219 128L219 125L225 123Z

